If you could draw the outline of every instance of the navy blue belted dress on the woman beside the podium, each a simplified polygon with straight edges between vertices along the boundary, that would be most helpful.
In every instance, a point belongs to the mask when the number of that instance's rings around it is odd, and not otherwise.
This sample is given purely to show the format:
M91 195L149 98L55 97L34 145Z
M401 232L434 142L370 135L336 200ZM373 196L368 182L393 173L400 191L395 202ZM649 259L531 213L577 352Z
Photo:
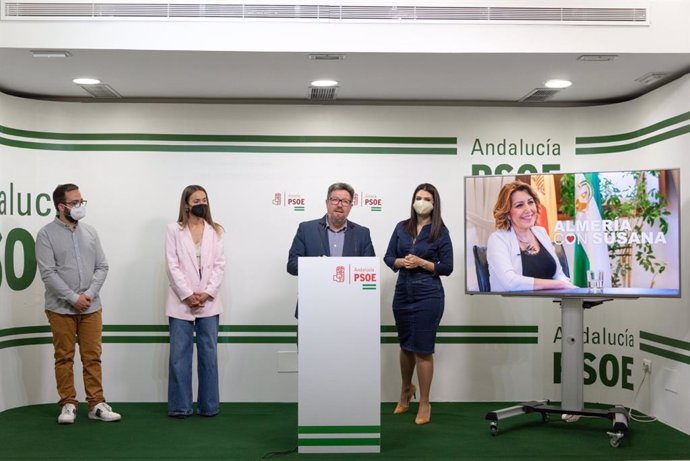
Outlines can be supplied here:
M404 221L403 221L404 222ZM433 354L436 331L443 316L445 295L441 275L453 272L453 244L444 226L436 240L429 241L431 224L422 227L415 241L405 230L403 222L395 226L383 260L399 271L393 296L393 315L398 329L400 347L418 354ZM431 273L420 267L396 269L396 258L414 254L434 263Z

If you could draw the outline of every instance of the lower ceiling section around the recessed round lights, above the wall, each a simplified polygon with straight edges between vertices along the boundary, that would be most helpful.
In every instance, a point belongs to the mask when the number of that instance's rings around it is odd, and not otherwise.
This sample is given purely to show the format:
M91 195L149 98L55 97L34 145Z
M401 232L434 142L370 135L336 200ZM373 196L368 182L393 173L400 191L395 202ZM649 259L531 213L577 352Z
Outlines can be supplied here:
M72 83L99 78L124 100L308 102L309 82L340 82L333 103L519 104L549 78L572 80L543 105L631 99L690 71L690 54L619 54L609 62L554 53L343 53L338 61L309 53L68 50L37 58L0 48L0 90L13 95L94 101ZM650 72L664 80L642 85ZM122 99L117 99L121 101Z

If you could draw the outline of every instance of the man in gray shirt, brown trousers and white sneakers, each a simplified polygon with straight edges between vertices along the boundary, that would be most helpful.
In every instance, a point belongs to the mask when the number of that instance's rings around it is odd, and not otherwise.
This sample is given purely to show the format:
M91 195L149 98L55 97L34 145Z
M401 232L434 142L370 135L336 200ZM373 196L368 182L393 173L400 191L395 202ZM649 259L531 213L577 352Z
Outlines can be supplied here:
M36 236L36 260L45 284L45 310L53 333L55 380L62 410L58 423L77 417L74 355L79 344L89 418L119 421L103 397L101 336L103 322L99 291L108 274L108 261L96 230L80 222L86 200L79 187L61 184L53 192L56 218Z

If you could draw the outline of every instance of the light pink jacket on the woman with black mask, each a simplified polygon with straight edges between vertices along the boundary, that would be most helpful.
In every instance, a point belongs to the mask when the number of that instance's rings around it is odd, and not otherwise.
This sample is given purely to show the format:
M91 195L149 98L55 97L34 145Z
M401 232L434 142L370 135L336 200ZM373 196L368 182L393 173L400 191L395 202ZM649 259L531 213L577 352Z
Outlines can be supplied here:
M165 303L165 313L181 320L196 317L210 317L223 312L220 300L220 284L225 272L223 235L205 223L201 238L201 278L196 250L189 228L180 228L178 223L168 225L165 236L165 259L167 262L170 289ZM204 307L192 309L183 299L195 292L205 292L211 297Z

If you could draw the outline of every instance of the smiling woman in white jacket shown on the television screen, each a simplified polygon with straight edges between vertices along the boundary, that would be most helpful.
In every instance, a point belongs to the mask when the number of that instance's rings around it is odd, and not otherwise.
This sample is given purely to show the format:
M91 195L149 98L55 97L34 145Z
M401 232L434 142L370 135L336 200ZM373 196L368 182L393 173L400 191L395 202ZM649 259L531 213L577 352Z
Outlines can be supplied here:
M507 183L498 193L496 231L486 249L491 291L576 288L563 273L548 232L535 225L539 205L537 193L522 181Z

